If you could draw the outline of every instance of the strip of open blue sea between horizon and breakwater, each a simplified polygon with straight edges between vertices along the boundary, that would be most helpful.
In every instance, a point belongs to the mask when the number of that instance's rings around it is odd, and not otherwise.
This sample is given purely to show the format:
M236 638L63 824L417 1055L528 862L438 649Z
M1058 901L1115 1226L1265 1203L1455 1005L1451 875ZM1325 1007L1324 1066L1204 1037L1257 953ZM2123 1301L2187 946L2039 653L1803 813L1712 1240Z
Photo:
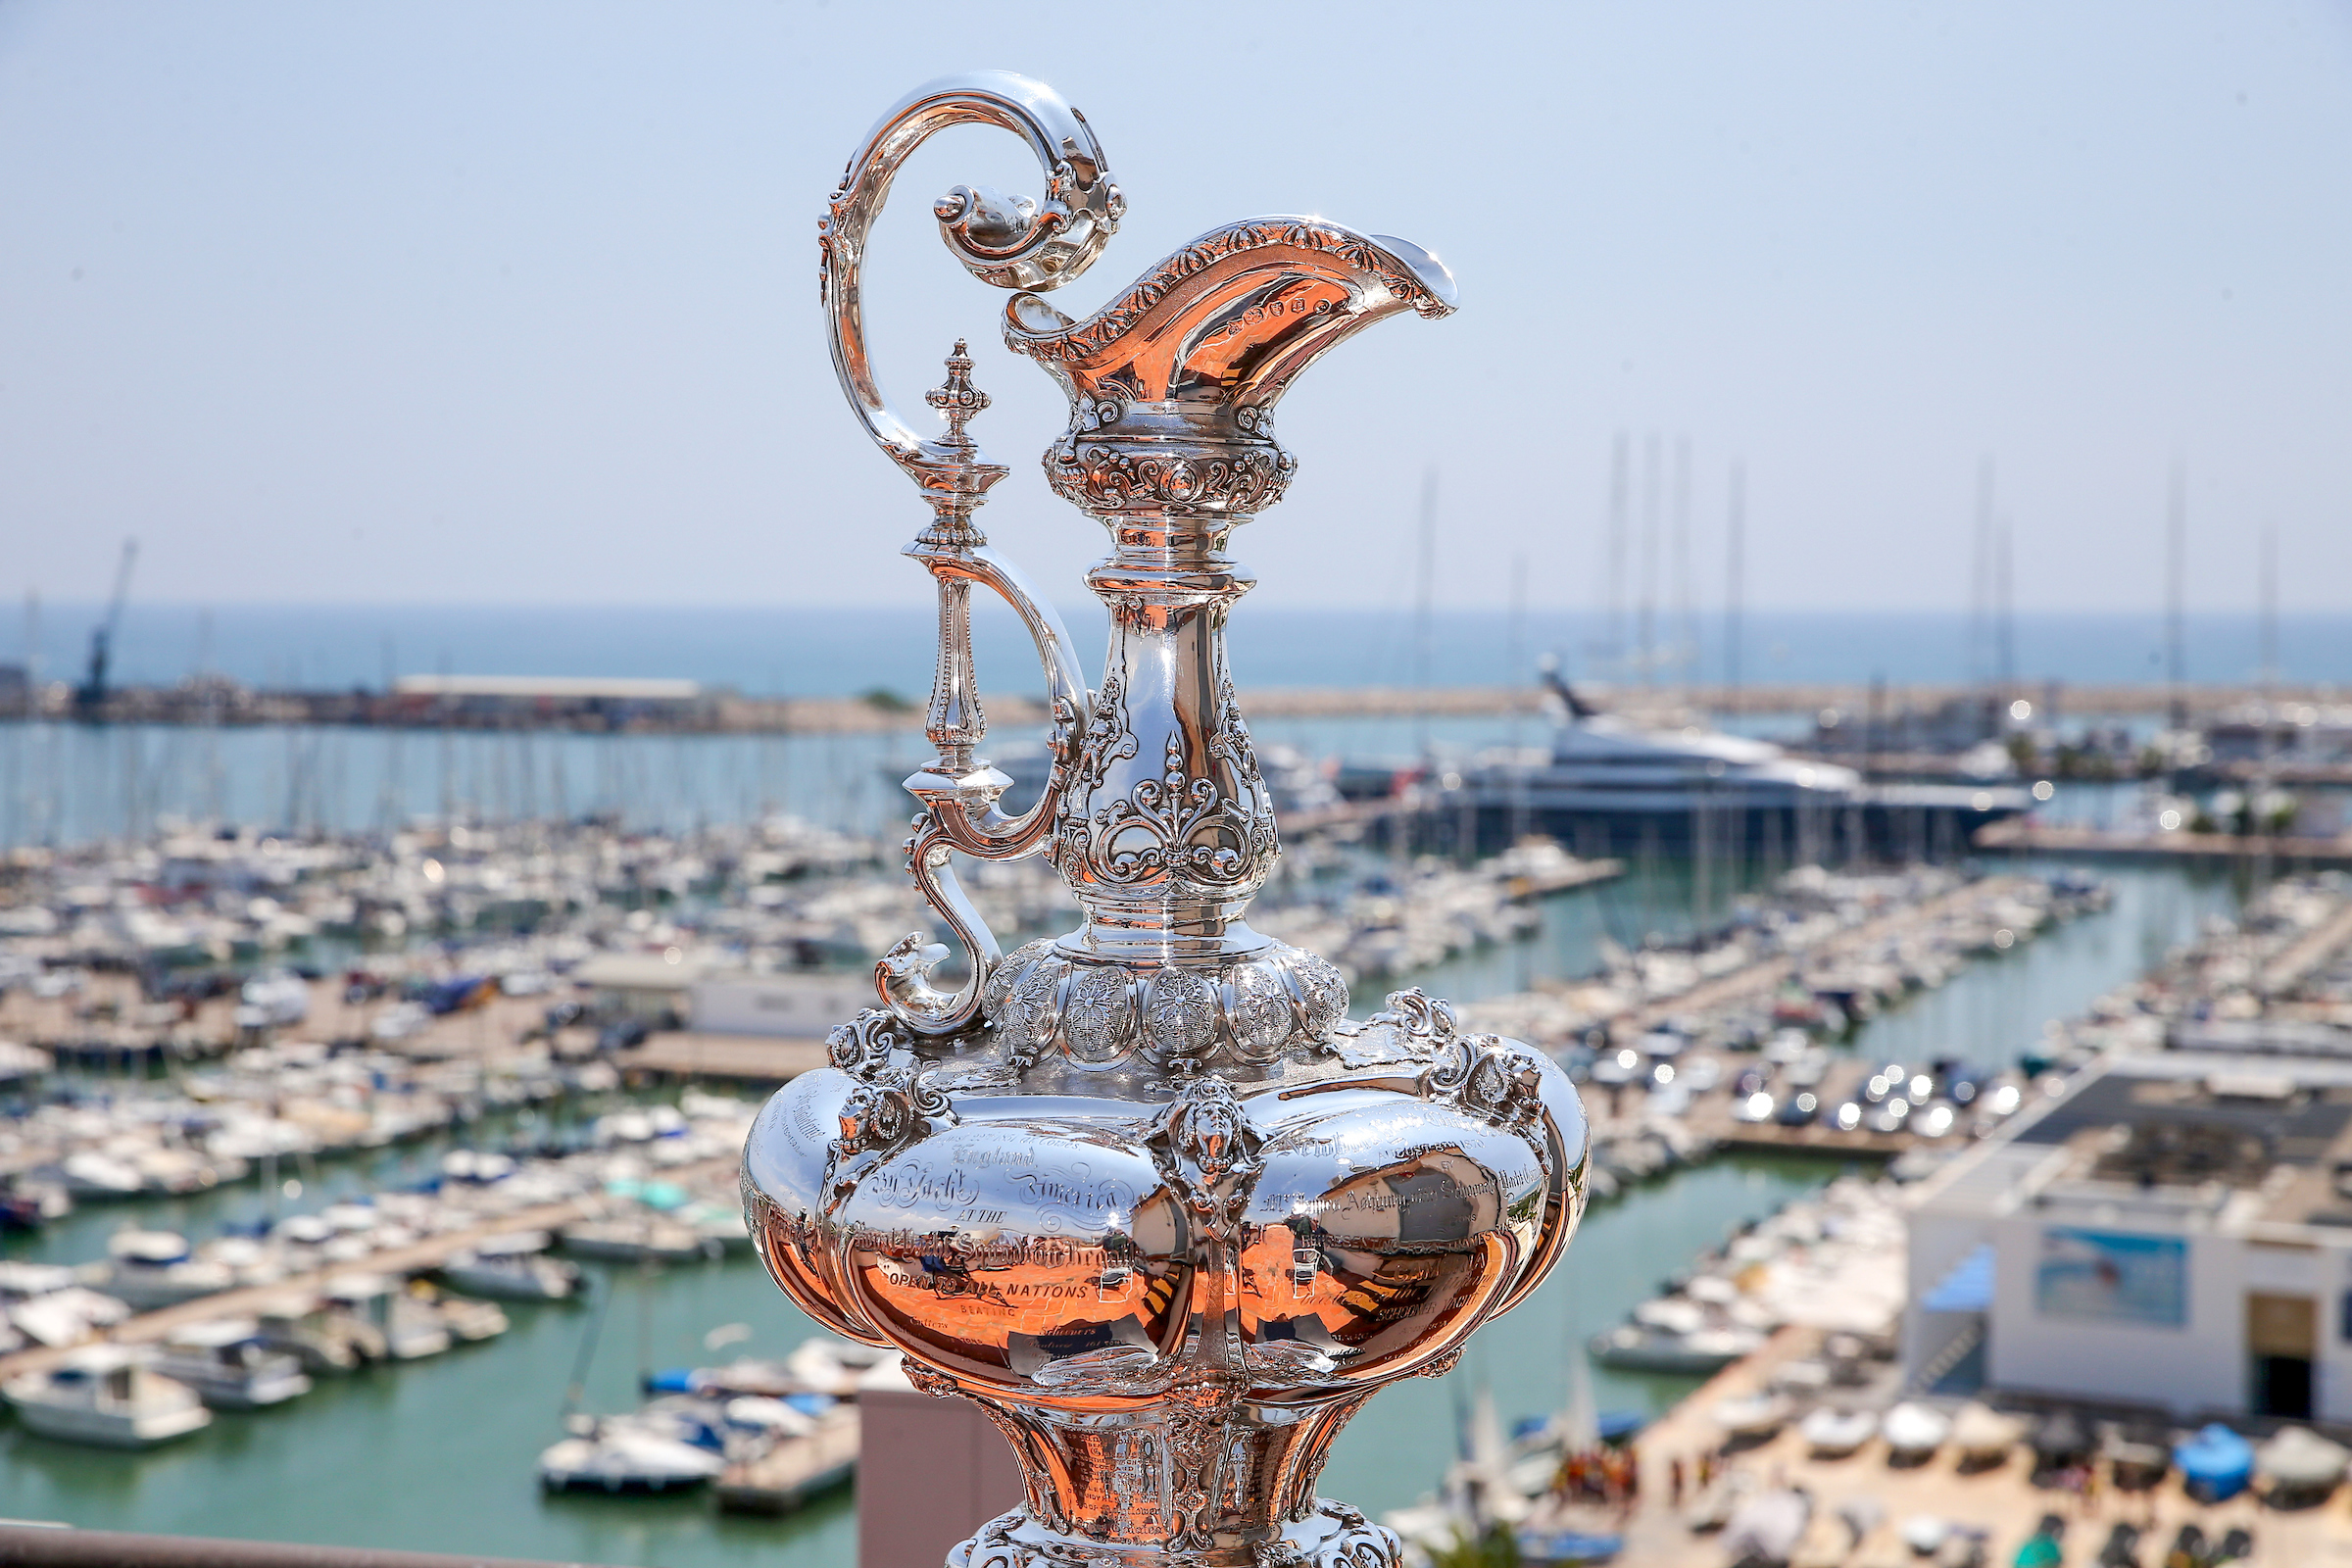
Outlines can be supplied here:
M89 604L45 604L38 644L31 628L0 623L0 663L38 654L47 679L80 679L89 646ZM1091 661L1103 646L1098 604L1068 604L1063 618ZM981 679L988 689L1030 684L1030 656L1014 618L993 602L974 607ZM2253 679L2263 658L2256 616L2187 618L2187 677ZM1616 632L1604 616L1503 609L1442 609L1430 618L1428 679L1442 686L1501 684L1538 654L1557 654L1571 675L1637 679L1630 649L1639 630ZM1750 611L1738 639L1748 682L1931 684L1997 672L1990 637L1962 614L1917 611ZM1423 639L1406 609L1235 611L1232 663L1244 686L1402 686L1423 675ZM1724 625L1708 616L1682 625L1658 616L1653 675L1726 675ZM1689 649L1679 658L1672 649ZM2352 616L2284 616L2274 661L2291 682L2352 682ZM734 686L746 693L842 696L889 686L920 693L931 679L931 614L922 607L783 609L546 609L546 607L381 607L381 604L195 604L134 602L115 639L115 677L176 682L198 670L273 686L381 686L388 675L647 675ZM2164 679L2164 623L2145 616L2027 614L2016 618L2009 670L2018 679L2129 684ZM1524 675L1517 675L1524 679Z

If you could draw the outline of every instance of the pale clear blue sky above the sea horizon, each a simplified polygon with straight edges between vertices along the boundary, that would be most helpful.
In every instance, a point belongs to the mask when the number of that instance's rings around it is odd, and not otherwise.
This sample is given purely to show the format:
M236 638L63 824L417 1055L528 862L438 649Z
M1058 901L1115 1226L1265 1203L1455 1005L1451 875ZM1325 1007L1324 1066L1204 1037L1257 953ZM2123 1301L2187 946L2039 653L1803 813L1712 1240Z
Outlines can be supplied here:
M1284 404L1237 536L1282 604L1602 597L1616 433L1686 437L1691 574L1750 475L1750 595L1964 609L1994 454L2025 609L2352 609L2343 5L0 7L0 592L179 602L882 604L922 508L833 386L814 216L889 101L1028 71L1129 219L1091 310L1258 212L1439 252ZM1065 592L1101 552L1035 454L1058 395L931 237L877 240L901 404L974 339L1014 477L983 520ZM1670 552L1661 592L1672 592Z

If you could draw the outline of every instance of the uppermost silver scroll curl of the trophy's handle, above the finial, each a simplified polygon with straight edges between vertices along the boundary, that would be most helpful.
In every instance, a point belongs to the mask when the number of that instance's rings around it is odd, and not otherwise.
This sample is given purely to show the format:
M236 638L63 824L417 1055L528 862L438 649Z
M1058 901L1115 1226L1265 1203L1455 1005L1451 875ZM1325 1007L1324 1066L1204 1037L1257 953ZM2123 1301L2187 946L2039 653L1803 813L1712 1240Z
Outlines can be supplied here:
M818 219L816 294L833 336L833 369L866 433L922 487L955 458L908 428L866 355L858 268L866 235L908 155L950 125L997 125L1030 143L1044 167L1044 202L957 186L931 205L938 235L957 261L1000 289L1058 289L1084 273L1127 209L1087 118L1061 94L1011 71L974 71L917 87L882 115Z

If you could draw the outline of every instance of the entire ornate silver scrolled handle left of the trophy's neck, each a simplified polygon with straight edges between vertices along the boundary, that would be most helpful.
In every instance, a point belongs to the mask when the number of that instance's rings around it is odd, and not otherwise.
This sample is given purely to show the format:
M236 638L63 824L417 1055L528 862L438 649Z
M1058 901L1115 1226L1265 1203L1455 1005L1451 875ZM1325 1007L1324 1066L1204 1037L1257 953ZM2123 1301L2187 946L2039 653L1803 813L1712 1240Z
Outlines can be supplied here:
M922 933L898 940L875 964L875 990L884 1006L920 1034L953 1034L981 1016L981 994L1002 961L997 938L971 907L955 877L953 853L1014 860L1044 846L1065 792L1070 757L1084 733L1082 715L1094 698L1080 675L1077 649L1061 616L1021 571L988 550L971 512L1004 468L981 458L964 423L988 407L971 386L971 357L957 343L948 357L946 386L927 402L946 414L948 433L922 440L898 416L875 381L866 353L861 270L866 240L891 179L908 155L950 125L995 125L1030 143L1044 169L1044 200L1007 197L997 190L957 186L931 205L938 237L981 282L1000 289L1054 289L1094 263L1120 228L1124 197L1103 162L1087 118L1044 82L1009 71L978 71L917 87L901 99L842 172L826 216L818 219L816 294L833 341L833 371L842 395L866 423L866 433L922 489L931 505L927 527L908 555L938 583L938 670L931 682L927 733L938 757L906 780L924 804L908 839L908 872L924 900L938 910L971 954L971 978L955 992L931 985L931 969L946 947ZM971 585L981 583L1021 616L1044 665L1054 712L1054 766L1037 804L1021 816L997 809L1011 778L978 759L988 733L971 668Z

